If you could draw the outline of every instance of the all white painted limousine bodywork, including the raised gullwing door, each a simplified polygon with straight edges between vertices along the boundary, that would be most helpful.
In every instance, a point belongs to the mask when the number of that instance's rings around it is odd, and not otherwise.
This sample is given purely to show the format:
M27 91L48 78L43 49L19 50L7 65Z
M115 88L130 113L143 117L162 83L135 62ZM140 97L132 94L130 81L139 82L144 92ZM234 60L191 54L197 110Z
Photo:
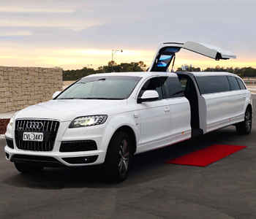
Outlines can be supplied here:
M196 42L186 42L184 44L165 43L159 47L151 64L150 72L89 75L85 78L140 77L141 79L132 90L132 93L125 99L58 99L59 93L55 93L53 96L57 96L57 99L20 110L20 112L16 113L13 117L14 122L12 126L10 124L7 126L5 137L13 140L14 146L13 148L8 145L4 147L7 153L7 160L11 161L13 155L34 155L55 158L59 163L65 166L103 164L105 162L108 146L110 145L110 140L120 128L125 127L131 130L129 137L135 139L134 145L132 145L134 147L133 152L138 154L189 139L192 137L193 131L199 130L201 134L206 134L209 131L240 123L244 120L246 108L252 107L252 98L248 90L201 94L196 81L197 77L233 76L239 78L238 76L227 72L154 72L159 61L159 55L161 55L159 53L162 53L162 48L165 47L184 48L211 58L217 58L218 53L221 55L218 56L218 58L236 58L236 55L233 55L233 53L211 45L203 45ZM173 55L175 55L175 53L172 52L170 61ZM167 63L167 66L164 66L163 71L168 68L170 61ZM150 89L146 92L144 91L145 95L143 94L140 97L140 91L148 80L158 77L168 77L170 80L178 81L178 77L183 76L189 77L195 85L194 95L197 97L198 102L198 112L196 115L199 120L198 127L194 127L195 130L193 130L191 124L192 100L189 100L185 96L176 96L168 99L164 97L162 99L157 91L151 91ZM72 85L65 91L71 88ZM162 84L162 90L163 89ZM65 91L62 91L62 93ZM159 97L159 100L152 101L152 99L157 97ZM150 98L151 101L145 101L145 99ZM139 103L139 99L143 99L143 102ZM84 118L93 115L105 115L108 118L105 120L105 123L96 126L69 127L76 118ZM16 120L59 121L60 125L56 134L53 150L35 151L18 149L15 142ZM60 152L61 142L86 140L94 140L97 145L97 150ZM64 158L79 158L93 155L98 155L98 158L96 161L89 164L70 164L64 161Z

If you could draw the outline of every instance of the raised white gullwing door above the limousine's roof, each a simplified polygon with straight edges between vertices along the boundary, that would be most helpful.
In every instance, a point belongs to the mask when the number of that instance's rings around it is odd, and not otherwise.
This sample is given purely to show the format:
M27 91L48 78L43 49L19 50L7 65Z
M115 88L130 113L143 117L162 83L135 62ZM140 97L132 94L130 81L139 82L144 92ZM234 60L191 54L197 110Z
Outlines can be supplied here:
M176 53L181 48L205 55L209 58L214 58L215 60L236 58L236 55L230 51L222 50L214 45L191 41L185 43L165 42L159 46L148 72L167 72L171 61L174 64Z

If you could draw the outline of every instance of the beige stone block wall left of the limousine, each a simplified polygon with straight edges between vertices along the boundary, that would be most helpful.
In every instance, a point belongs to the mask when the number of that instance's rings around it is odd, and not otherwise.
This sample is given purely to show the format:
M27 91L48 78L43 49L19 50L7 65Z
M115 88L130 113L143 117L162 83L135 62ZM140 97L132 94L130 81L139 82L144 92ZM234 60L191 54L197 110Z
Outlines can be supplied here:
M22 110L62 91L62 69L0 66L0 113Z

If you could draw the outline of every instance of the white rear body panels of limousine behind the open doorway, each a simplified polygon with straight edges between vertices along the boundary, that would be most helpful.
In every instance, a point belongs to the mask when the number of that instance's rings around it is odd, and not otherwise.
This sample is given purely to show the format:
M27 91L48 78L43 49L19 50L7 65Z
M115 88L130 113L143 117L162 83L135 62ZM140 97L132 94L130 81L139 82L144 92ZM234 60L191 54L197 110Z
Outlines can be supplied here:
M193 72L193 75L195 77L216 75L238 77L228 72ZM200 98L199 109L202 113L204 133L243 121L246 107L252 103L251 93L248 90L209 93L201 95Z

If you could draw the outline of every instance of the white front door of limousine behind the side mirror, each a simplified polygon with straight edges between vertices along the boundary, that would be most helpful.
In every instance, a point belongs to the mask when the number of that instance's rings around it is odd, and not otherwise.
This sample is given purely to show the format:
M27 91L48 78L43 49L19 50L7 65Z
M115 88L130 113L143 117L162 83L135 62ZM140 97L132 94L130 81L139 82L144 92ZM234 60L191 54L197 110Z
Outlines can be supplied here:
M140 143L137 153L170 144L170 106L163 99L159 77L148 79L138 96L145 91L157 91L157 101L138 104L140 110Z

